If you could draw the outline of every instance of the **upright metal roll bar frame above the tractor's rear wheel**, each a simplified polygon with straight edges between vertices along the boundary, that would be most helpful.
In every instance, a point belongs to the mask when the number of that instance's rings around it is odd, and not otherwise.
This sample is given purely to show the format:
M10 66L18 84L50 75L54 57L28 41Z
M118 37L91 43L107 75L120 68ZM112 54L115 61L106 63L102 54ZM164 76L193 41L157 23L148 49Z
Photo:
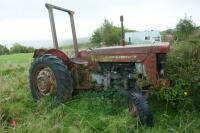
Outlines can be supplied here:
M53 45L54 48L58 49L58 39L57 39L57 34L56 34L56 27L55 27L55 21L54 21L54 15L53 15L53 9L57 9L63 12L67 12L70 16L70 23L71 23L71 29L72 29L72 37L73 37L73 42L74 42L74 50L75 50L75 55L76 57L78 56L78 43L77 43L77 37L76 37L76 29L75 29L75 24L74 24L74 12L68 9L64 9L62 7L54 6L51 4L46 3L45 4L46 8L48 9L49 12L49 20L50 20L50 25L51 25L51 32L52 32L52 37L53 37Z

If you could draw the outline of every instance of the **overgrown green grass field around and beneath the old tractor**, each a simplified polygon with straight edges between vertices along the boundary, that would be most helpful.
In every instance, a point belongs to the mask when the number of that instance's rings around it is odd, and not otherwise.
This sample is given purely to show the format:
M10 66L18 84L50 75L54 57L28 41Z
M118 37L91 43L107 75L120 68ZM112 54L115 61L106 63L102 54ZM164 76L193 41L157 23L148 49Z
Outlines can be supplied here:
M105 92L84 92L59 105L51 98L34 102L28 85L31 60L32 54L0 56L0 132L200 132L199 112L176 110L155 99L150 100L153 128L139 125L122 99Z

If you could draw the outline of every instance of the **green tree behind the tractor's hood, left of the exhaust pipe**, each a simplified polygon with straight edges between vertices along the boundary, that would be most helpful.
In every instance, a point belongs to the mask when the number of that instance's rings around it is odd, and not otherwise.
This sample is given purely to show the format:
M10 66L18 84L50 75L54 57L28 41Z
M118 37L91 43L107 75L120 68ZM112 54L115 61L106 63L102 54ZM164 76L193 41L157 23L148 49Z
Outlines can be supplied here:
M93 32L91 42L95 44L103 43L108 46L116 45L120 42L120 36L121 29L105 19L104 23Z

